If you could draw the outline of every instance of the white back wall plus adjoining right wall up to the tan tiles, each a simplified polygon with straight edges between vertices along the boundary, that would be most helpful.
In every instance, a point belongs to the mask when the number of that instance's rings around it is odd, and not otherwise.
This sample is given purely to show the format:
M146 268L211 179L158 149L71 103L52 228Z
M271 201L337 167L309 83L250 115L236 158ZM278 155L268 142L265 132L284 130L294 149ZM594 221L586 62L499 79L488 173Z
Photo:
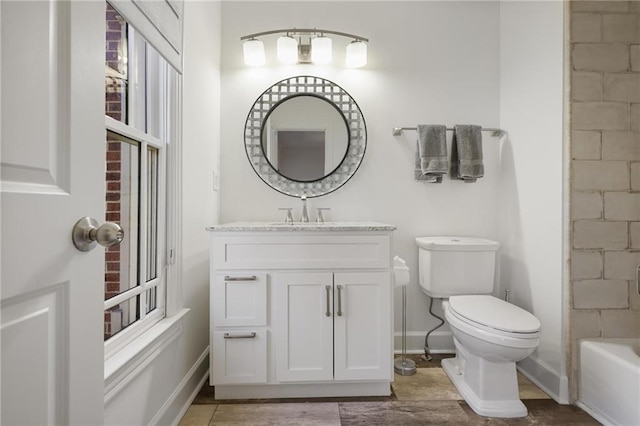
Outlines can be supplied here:
M224 2L223 16L221 222L280 220L278 207L294 207L299 217L299 201L270 189L252 171L243 146L246 115L280 79L311 74L334 81L363 111L367 153L343 188L310 200L310 207L330 207L330 220L398 226L394 251L407 260L412 277L410 349L421 351L426 331L437 324L418 288L414 238L495 239L502 243L500 294L510 288L512 301L543 327L540 348L523 368L562 399L561 2ZM242 35L287 27L368 37L369 64L344 68L340 43L346 42L334 39L335 65L282 66L275 37L267 37L267 66L244 66ZM415 132L391 135L393 127L418 123L501 127L509 137L484 134L486 173L477 183L418 183ZM396 332L399 306L398 298ZM432 349L452 349L446 326L432 336Z

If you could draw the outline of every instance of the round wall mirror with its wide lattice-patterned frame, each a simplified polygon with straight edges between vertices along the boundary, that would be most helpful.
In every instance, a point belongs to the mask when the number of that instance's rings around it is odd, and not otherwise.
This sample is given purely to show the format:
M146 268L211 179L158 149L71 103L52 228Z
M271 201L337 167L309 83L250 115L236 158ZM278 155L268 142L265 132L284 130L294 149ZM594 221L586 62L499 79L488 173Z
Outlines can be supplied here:
M340 86L320 77L291 77L268 88L245 124L251 166L286 195L318 197L356 172L367 144L364 117Z

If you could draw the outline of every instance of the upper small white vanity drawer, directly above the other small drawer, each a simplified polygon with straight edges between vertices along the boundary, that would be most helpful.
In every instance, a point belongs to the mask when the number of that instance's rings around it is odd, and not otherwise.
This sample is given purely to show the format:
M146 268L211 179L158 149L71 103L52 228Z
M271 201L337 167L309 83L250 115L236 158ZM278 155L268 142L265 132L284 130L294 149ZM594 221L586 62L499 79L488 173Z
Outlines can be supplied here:
M267 325L267 274L216 274L211 301L215 327Z

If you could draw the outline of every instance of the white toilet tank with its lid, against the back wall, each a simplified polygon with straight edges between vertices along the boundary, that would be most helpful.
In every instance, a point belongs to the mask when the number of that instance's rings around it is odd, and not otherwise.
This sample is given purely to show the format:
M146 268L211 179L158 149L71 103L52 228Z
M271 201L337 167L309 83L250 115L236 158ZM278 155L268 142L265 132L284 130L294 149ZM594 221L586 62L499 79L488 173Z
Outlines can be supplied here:
M491 294L500 243L470 237L418 237L420 288L430 297Z

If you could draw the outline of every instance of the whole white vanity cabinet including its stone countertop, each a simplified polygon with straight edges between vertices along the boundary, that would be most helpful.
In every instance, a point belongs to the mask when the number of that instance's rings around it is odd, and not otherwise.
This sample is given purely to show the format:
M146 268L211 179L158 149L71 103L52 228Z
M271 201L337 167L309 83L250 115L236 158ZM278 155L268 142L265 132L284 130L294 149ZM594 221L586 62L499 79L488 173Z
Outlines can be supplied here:
M393 229L209 228L216 398L389 395Z

